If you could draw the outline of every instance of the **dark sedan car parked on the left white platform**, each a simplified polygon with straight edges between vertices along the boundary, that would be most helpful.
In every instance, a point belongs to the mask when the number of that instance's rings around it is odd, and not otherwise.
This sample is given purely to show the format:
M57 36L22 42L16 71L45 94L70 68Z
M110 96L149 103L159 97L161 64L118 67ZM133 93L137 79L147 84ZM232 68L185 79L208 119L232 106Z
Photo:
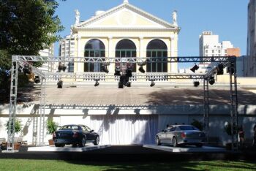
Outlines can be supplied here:
M99 144L99 134L85 125L64 125L53 133L53 141L56 147L64 147L66 144L84 147L86 142Z

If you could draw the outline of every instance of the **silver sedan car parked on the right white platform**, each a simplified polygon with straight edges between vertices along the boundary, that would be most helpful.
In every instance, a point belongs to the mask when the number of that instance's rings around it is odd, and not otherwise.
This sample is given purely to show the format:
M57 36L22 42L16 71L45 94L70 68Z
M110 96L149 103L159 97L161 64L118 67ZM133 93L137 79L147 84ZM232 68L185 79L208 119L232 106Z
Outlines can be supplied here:
M196 145L202 147L206 142L206 134L192 125L172 125L156 135L157 145L162 143L178 145Z

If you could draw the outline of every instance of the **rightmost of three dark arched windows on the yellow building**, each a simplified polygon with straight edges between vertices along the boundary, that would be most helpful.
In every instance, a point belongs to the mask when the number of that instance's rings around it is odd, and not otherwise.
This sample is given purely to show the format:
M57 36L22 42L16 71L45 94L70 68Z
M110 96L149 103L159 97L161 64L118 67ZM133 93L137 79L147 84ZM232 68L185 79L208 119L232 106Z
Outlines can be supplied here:
M167 45L159 39L151 40L147 46L147 57L157 63L147 63L147 72L167 72Z

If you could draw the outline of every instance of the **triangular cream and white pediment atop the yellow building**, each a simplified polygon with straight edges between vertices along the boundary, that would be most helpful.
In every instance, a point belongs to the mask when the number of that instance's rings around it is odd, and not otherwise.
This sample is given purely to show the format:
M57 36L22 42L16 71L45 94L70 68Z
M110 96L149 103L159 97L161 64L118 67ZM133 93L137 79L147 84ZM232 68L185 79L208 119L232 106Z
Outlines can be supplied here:
M93 18L79 23L75 28L174 28L166 22L131 4L124 3Z

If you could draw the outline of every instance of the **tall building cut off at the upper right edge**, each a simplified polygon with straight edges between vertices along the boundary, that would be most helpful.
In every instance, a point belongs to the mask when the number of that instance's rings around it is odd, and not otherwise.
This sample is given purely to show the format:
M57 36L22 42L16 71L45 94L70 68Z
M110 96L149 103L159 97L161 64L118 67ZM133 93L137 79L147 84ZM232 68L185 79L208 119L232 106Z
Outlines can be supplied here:
M246 77L256 77L256 2L250 0L248 4L248 32L247 32L247 61Z

